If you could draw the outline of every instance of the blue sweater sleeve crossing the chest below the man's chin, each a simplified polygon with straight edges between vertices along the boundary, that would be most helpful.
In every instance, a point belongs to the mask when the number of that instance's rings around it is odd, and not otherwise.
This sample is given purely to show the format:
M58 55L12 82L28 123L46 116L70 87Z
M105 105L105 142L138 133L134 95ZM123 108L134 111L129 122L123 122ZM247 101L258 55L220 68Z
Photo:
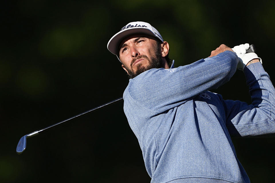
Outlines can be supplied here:
M150 69L130 79L127 92L139 105L161 113L229 81L237 62L234 52L225 51L174 69Z

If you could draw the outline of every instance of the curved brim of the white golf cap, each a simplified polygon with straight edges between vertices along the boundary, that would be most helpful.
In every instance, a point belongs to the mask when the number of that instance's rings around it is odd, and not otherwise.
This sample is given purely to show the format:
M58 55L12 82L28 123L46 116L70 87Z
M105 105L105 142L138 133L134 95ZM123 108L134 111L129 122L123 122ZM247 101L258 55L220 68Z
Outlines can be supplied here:
M111 53L117 55L119 43L127 36L133 34L146 34L156 37L156 35L149 29L144 27L131 27L131 29L125 29L116 33L108 42L107 48Z

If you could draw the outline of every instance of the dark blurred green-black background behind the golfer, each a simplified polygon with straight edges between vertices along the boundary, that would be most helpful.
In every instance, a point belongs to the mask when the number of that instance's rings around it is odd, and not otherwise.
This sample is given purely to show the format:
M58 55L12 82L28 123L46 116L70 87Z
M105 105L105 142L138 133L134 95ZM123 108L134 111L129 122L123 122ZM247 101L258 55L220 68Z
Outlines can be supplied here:
M170 44L176 67L224 43L256 46L271 80L274 1L9 1L0 7L0 182L150 182L123 102L29 138L25 134L122 96L128 83L107 50L131 21ZM241 71L213 91L250 103ZM274 182L274 138L233 139L251 182Z

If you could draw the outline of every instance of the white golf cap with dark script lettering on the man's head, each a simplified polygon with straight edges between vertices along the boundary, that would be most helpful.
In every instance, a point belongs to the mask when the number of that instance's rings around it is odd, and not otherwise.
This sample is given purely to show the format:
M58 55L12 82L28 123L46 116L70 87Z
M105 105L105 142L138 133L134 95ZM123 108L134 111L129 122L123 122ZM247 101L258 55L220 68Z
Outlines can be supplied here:
M146 34L157 37L163 42L160 33L152 25L146 22L130 22L116 33L108 42L107 48L111 53L117 55L119 43L127 36L133 34ZM117 55L119 59L119 55ZM120 61L120 60L119 60Z

